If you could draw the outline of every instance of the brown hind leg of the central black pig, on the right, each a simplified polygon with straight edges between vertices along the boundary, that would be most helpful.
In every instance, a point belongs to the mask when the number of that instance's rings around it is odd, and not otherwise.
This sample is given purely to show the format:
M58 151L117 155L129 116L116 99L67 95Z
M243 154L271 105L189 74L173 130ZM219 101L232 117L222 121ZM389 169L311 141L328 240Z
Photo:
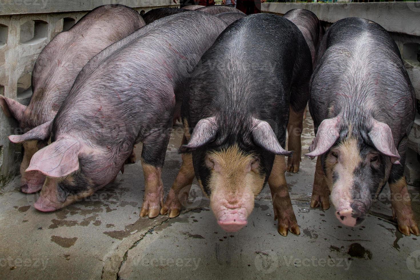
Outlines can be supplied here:
M289 123L287 123L287 132L289 133L288 150L294 151L291 157L287 159L287 171L297 173L299 171L300 156L302 144L300 142L300 135L303 128L303 113L296 112L290 106L289 110Z

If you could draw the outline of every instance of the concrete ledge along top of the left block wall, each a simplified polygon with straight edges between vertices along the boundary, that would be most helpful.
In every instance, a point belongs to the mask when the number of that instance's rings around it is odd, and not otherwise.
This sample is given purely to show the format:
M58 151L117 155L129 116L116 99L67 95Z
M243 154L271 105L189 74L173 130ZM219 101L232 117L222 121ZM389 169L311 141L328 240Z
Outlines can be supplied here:
M173 3L172 0L2 0L0 1L0 16L87 11L107 4L121 4L131 8L160 6L179 8L179 4Z

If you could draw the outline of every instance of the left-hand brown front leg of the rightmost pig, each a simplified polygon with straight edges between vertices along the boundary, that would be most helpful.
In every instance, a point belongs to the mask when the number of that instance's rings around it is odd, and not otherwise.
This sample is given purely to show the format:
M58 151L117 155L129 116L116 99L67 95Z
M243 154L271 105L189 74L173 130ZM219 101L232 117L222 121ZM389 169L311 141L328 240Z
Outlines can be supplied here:
M312 188L311 208L318 206L321 206L324 210L330 208L330 191L328 190L324 177L325 175L321 165L321 157L317 157L314 186Z

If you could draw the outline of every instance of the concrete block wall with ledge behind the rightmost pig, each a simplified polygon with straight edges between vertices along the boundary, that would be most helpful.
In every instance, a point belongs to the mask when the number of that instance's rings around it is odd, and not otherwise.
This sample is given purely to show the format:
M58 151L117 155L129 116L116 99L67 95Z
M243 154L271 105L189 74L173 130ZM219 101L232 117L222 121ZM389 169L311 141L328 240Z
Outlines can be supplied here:
M280 16L291 9L315 13L328 28L347 17L367 18L388 30L399 47L404 65L420 99L420 2L383 3L262 3L261 10ZM409 135L410 149L420 154L420 115L417 113Z

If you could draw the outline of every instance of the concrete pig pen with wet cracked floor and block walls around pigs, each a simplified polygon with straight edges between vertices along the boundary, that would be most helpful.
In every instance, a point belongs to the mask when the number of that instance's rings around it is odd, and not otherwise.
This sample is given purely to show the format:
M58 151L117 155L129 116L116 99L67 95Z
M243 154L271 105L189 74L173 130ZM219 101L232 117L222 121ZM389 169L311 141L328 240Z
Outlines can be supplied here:
M11 3L15 2L19 1ZM77 0L66 4L64 8L60 1L49 3L34 0L16 4L16 10L8 9L11 4L3 5L3 12L0 13L0 54L5 54L3 64L7 67L0 69L0 94L18 99L22 103L29 102L31 92L26 89L30 88L30 71L42 47L57 30L61 30L61 26L66 29L66 26L74 24L87 10L115 2L135 7L140 13L150 8L177 6L172 0L147 2L143 3L144 5L140 5L142 1L129 0ZM46 7L41 9L43 6L38 7L36 3L46 3ZM81 6L82 4L84 6ZM399 5L399 11L408 17L407 20L411 20L409 15L418 10L414 4L404 4L403 8L403 3L360 3L366 7L362 9L360 6L363 12L371 14L359 16L381 23L381 20L373 18L376 14L376 4L394 5L393 7ZM291 9L307 8L294 5L310 4L284 5ZM320 5L332 10L334 7L338 9L338 5L350 4ZM83 9L80 10L79 7ZM264 6L262 8L264 9ZM392 11L392 8L390 9ZM341 11L345 13L345 9ZM271 12L282 14L276 10ZM14 16L9 18L8 13ZM328 16L332 15L341 16L339 13L325 13L323 19L327 24L337 20L328 20ZM357 15L356 13L352 16ZM317 16L320 17L320 13L317 13ZM345 16L349 15L344 14L343 17ZM410 50L420 43L419 35L413 35L409 24L396 25L397 20L402 20L393 13L382 18L389 17L394 18L394 21L387 21L392 27L386 24L384 26L392 29L392 36L399 44L418 94L418 66L407 65L412 63L408 58L411 58ZM27 25L26 22L33 26ZM35 37L31 30L44 33L37 32L39 36ZM408 47L407 42L411 42ZM17 60L18 67L13 68L11 60ZM2 114L0 117L1 128L15 125ZM307 157L302 157L298 173L286 173L294 212L301 230L299 236L289 233L287 237L283 237L277 232L277 221L274 221L268 186L265 186L257 197L248 225L239 232L226 233L217 225L209 207L209 200L202 194L197 181L193 183L188 207L183 209L178 217L169 219L168 216L159 215L153 219L140 218L144 177L139 160L135 164L126 165L123 175L119 173L114 183L94 195L56 212L39 212L33 207L39 193L21 193L20 176L15 177L20 163L16 152L20 150L20 146L15 147L3 137L11 134L10 131L3 130L1 133L1 279L348 279L367 276L408 278L418 277L420 274L418 237L403 236L397 230L396 222L391 218L388 186L373 204L365 222L357 228L346 228L336 219L333 207L325 211L310 208L316 161ZM165 196L181 166L178 147L182 133L181 124L177 123L172 131L163 168ZM307 148L313 136L313 124L308 112L302 133L302 154L308 152ZM418 141L418 137L415 141ZM141 154L141 144L136 146L135 152ZM415 152L410 151L407 155L406 175L409 175L407 178L412 178L408 187L417 223L420 223L420 195L419 181L415 180L419 178L419 174L417 156Z

